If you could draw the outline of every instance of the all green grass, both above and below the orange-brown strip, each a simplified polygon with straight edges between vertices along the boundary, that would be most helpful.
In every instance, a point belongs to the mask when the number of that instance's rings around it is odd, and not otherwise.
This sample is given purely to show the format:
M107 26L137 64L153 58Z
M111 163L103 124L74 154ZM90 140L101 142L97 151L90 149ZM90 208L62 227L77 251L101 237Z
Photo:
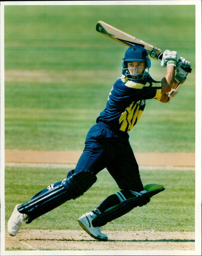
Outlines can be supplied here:
M195 152L195 5L22 5L4 10L5 149L83 150L85 136L122 72L127 49L95 30L103 20L162 51L176 50L192 63L192 73L170 104L147 101L130 132L133 150ZM151 59L151 65L151 76L161 80L165 69L160 61ZM67 172L6 167L6 225L15 204ZM23 228L78 229L76 218L118 191L106 175L99 173L83 197ZM160 183L166 190L106 229L194 231L195 172L144 170L141 177L144 185Z

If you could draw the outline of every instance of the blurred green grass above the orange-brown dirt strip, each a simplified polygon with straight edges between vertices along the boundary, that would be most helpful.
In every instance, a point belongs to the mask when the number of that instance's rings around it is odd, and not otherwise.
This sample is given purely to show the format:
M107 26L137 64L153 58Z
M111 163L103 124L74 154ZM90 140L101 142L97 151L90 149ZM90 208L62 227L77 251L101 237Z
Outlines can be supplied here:
M195 6L170 6L167 17L166 6L156 8L5 6L5 148L83 150L127 49L95 30L103 20L192 63L179 95L170 104L148 100L130 136L140 152L194 152ZM161 80L165 69L151 61Z

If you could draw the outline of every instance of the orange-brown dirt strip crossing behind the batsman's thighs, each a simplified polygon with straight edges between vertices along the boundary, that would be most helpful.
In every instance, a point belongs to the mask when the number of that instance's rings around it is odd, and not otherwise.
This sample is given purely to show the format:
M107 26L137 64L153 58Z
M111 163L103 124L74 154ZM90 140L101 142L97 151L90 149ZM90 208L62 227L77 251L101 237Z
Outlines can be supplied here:
M5 164L76 164L82 151L5 150ZM194 153L134 153L139 166L194 167Z

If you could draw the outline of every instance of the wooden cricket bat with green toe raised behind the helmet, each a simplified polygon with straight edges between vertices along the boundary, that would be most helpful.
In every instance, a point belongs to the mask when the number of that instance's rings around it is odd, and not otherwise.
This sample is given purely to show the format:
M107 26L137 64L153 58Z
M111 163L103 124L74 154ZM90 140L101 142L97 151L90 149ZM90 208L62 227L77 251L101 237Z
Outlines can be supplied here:
M147 50L148 55L155 59L155 60L162 60L163 54L161 52L161 49L158 47L155 47L153 45L148 44L147 42L144 42L137 37L133 37L115 27L110 26L109 24L103 22L103 21L98 21L96 25L96 30L103 35L114 39L117 42L120 42L121 44L125 46L132 46L132 45L140 45L144 47ZM185 71L188 73L191 73L192 69L189 68L183 68Z

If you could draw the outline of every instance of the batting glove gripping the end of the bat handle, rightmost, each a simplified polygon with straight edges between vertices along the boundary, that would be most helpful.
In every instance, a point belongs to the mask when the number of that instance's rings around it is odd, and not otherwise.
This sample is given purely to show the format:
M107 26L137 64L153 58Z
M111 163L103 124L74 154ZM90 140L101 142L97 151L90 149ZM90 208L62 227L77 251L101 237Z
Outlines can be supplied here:
M184 83L184 81L187 78L188 72L182 68L189 68L189 67L191 67L191 63L186 59L184 59L183 57L180 57L176 64L176 75L175 75L175 80L178 83Z

